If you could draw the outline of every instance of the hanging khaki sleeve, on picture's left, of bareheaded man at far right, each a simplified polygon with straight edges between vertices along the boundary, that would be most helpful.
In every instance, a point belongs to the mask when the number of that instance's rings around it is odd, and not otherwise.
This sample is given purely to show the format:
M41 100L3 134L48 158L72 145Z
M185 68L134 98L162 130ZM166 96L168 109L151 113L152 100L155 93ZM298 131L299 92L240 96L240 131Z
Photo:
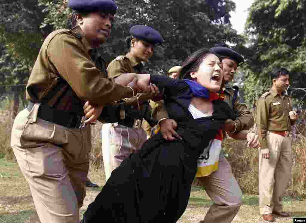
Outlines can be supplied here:
M267 129L268 129L269 107L265 98L259 98L256 106L257 134L261 149L268 149Z

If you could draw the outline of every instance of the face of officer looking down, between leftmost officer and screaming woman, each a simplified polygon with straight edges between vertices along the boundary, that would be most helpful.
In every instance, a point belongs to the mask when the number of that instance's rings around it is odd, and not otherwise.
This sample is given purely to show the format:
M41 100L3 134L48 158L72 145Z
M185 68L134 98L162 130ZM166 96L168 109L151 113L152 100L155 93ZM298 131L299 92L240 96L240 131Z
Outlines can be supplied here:
M154 45L144 40L132 39L131 54L139 61L147 62L153 55Z

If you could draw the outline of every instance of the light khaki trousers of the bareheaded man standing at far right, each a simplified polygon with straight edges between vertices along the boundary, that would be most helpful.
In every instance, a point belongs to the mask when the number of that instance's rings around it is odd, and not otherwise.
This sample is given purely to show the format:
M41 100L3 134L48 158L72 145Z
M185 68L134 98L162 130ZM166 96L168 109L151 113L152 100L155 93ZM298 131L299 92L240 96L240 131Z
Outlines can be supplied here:
M262 157L259 149L259 211L271 214L282 211L282 196L291 176L291 137L269 132L267 135L269 159Z

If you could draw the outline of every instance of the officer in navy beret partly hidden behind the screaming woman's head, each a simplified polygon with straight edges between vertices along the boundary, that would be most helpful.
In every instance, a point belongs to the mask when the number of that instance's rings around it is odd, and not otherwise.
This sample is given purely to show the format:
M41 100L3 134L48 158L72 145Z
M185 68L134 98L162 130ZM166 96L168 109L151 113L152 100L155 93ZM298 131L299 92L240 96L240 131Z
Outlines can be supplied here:
M216 46L210 49L211 52L220 55L222 59L223 82L222 90L230 107L237 111L237 119L229 120L225 125L225 131L234 139L248 140L250 147L259 147L258 137L248 129L254 125L254 118L245 104L240 103L237 86L227 85L233 80L237 67L241 65L244 58L234 50ZM222 222L229 223L236 216L242 205L242 192L235 179L230 163L221 152L218 160L218 169L209 176L198 178L205 188L205 191L214 201L204 219L200 223Z

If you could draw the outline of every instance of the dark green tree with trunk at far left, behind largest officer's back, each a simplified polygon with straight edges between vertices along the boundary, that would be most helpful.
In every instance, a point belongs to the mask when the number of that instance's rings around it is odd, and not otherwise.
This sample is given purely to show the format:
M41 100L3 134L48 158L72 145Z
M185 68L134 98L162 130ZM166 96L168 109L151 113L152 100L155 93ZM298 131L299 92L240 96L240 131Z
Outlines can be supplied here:
M13 97L12 118L24 98L24 85L38 55L46 29L40 29L43 12L33 0L0 1L0 94ZM11 86L16 85L16 86Z

